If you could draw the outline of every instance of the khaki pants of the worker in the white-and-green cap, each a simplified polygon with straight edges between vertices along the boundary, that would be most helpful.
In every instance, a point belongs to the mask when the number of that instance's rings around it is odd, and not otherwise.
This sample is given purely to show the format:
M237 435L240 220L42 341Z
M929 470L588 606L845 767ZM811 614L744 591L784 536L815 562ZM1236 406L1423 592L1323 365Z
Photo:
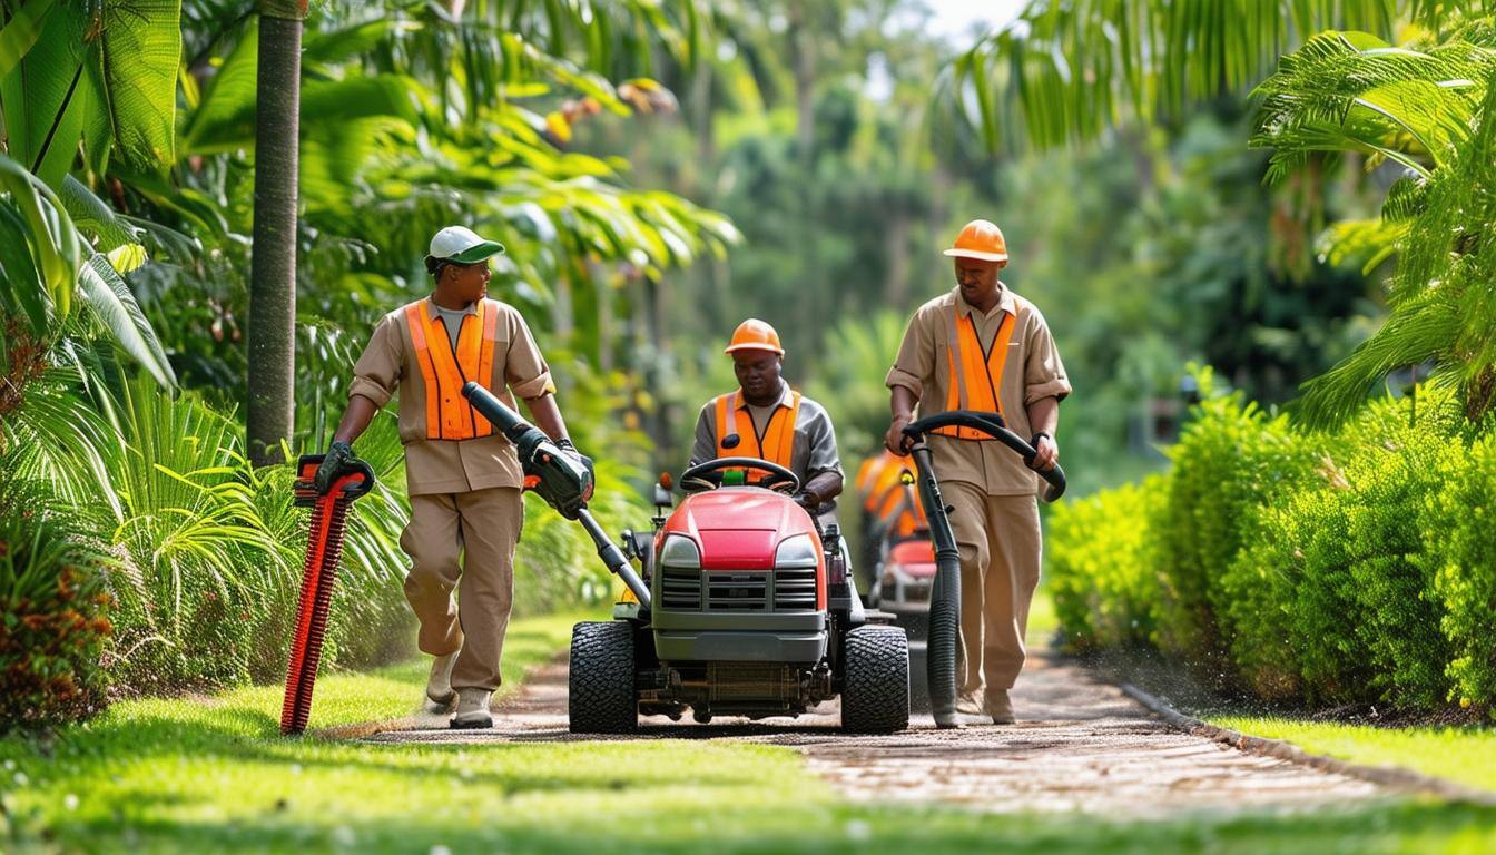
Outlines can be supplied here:
M453 689L498 689L524 514L515 487L410 497L410 524L399 536L413 565L405 599L420 620L422 653L462 648Z

